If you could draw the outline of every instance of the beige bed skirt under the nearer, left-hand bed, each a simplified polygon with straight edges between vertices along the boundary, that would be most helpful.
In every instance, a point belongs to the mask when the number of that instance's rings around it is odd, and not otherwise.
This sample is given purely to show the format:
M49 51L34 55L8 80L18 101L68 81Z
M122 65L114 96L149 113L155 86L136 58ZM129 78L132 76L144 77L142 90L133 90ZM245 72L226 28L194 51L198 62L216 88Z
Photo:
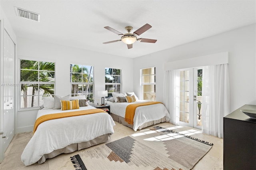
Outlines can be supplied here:
M62 148L62 149L58 149L58 150L54 150L52 151L51 153L49 154L44 154L42 156L42 158L40 160L38 160L38 164L42 164L45 162L45 160L47 158L53 158L55 156L58 156L59 154L62 154L62 153L71 153L71 152L74 152L76 150L81 150L81 149L84 149L84 148L89 148L90 146L94 146L96 144L100 144L100 143L103 143L103 142L106 142L108 140L108 137L110 137L111 134L104 134L102 136L98 136L97 138L94 138L90 141L87 141L87 142L82 142L82 143L75 143L75 144L70 144L68 146L66 146L65 148Z

